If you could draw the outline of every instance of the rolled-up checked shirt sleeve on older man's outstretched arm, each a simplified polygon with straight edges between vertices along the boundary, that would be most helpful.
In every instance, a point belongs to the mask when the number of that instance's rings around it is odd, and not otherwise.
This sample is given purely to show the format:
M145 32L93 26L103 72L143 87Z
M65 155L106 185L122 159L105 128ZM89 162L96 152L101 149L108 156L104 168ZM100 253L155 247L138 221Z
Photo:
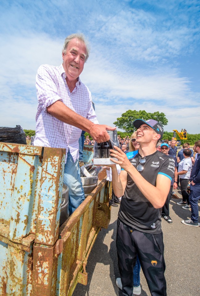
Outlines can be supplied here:
M39 67L36 75L36 90L38 103L47 115L51 116L47 112L47 107L55 103L56 101L62 101L58 94L58 81L56 76L49 71L47 65Z

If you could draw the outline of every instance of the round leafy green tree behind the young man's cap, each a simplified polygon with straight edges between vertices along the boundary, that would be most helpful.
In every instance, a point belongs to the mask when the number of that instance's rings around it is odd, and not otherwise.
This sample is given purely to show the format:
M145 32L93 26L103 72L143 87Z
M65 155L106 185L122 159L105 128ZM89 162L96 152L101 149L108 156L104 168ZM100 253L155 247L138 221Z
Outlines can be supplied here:
M133 121L136 119L148 120L149 118L157 120L160 124L167 125L168 120L165 117L164 113L158 111L154 113L148 113L145 110L128 110L125 113L121 114L121 117L117 118L117 121L113 122L119 129L125 130L126 133L133 133L136 128L133 125Z

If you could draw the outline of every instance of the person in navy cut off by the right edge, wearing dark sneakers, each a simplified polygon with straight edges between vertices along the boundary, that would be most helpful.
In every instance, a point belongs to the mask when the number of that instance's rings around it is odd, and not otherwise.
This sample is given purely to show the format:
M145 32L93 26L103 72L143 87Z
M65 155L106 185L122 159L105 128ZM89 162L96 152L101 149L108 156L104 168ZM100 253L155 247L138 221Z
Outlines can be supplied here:
M194 162L194 167L190 175L190 195L189 203L191 207L191 219L182 220L185 225L198 227L198 200L200 198L200 141L194 143L194 152L198 156Z

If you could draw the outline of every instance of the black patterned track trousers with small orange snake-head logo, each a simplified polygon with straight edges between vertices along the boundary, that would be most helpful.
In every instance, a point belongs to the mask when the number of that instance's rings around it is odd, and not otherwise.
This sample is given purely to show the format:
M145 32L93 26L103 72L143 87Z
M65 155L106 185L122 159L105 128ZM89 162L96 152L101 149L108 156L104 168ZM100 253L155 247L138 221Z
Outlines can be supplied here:
M122 295L133 294L133 266L137 255L152 296L166 296L163 234L137 231L117 220L116 237Z

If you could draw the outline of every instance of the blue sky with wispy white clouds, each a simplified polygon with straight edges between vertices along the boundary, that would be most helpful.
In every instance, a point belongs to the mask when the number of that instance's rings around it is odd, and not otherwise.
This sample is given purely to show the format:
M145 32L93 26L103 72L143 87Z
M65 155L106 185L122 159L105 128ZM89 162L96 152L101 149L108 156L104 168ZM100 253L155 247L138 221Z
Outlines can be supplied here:
M35 76L60 65L67 35L91 53L81 80L100 124L125 111L164 112L164 130L200 133L200 1L0 2L0 126L35 129Z

